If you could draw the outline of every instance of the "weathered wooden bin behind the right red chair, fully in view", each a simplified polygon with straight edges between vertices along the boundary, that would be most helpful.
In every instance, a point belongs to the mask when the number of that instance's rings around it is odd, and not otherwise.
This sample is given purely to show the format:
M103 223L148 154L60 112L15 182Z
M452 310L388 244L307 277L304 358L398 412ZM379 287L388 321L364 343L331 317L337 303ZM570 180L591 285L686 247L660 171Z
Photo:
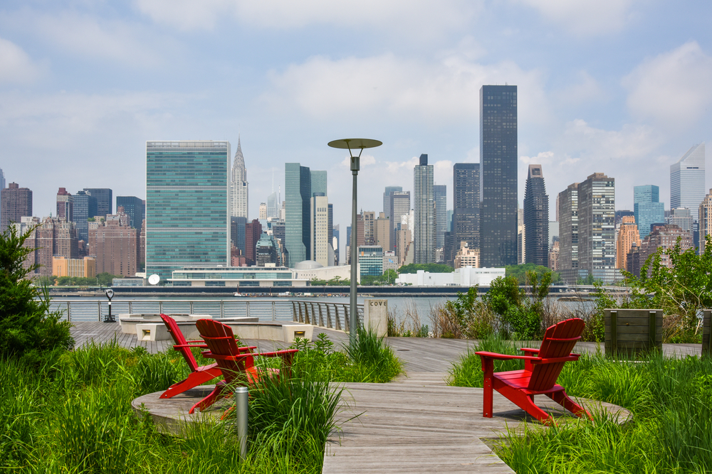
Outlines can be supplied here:
M663 347L661 309L605 309L608 355L635 356Z

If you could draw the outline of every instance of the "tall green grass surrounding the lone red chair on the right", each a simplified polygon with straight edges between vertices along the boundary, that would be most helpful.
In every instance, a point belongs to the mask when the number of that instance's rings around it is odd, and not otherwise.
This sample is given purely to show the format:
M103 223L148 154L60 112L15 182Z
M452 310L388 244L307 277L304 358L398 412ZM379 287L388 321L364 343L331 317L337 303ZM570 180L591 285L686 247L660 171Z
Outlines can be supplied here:
M451 371L451 384L481 386L478 365L473 354L464 357ZM496 451L517 473L712 472L711 359L582 355L564 365L557 383L570 395L624 406L632 421L620 425L612 416L594 414L594 423L535 426L524 436L511 431Z

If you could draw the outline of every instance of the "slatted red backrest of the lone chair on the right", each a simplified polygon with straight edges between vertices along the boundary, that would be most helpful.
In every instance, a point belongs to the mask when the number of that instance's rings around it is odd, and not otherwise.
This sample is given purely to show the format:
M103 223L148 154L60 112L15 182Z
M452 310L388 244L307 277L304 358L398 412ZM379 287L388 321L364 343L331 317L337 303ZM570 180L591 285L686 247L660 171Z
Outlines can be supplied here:
M580 318L567 319L547 328L538 356L543 359L570 355L580 340L585 323ZM527 386L530 390L548 390L554 386L565 362L534 364Z

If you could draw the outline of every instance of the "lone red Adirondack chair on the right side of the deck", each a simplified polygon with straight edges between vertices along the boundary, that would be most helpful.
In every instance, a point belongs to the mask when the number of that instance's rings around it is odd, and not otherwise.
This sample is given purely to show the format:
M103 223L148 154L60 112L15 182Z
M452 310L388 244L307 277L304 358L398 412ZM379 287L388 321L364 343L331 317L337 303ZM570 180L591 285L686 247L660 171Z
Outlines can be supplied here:
M542 423L553 421L551 416L534 404L534 395L546 395L576 416L591 414L576 404L564 390L556 384L564 363L578 360L579 354L571 350L581 339L585 323L580 318L567 319L547 328L539 349L522 348L525 355L504 355L495 352L475 352L482 360L484 375L484 404L482 416L492 417L492 389L503 394ZM524 370L494 373L494 360L523 359Z

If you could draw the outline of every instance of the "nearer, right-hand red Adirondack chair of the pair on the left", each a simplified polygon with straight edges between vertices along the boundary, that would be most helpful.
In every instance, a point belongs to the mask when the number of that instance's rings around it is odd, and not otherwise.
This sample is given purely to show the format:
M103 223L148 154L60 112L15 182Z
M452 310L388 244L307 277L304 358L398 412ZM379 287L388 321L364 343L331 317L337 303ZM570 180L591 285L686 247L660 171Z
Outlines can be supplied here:
M203 411L223 397L229 397L232 392L227 392L226 388L234 383L254 384L261 375L261 371L254 365L254 357L282 357L284 367L288 370L292 364L292 358L298 350L278 350L276 352L242 353L235 343L235 336L228 325L213 321L211 319L199 319L196 327L200 337L205 341L209 351L203 352L204 357L209 357L217 362L224 379L215 384L215 389L197 404L194 404L189 413L195 409ZM268 370L268 375L277 375L279 370Z

